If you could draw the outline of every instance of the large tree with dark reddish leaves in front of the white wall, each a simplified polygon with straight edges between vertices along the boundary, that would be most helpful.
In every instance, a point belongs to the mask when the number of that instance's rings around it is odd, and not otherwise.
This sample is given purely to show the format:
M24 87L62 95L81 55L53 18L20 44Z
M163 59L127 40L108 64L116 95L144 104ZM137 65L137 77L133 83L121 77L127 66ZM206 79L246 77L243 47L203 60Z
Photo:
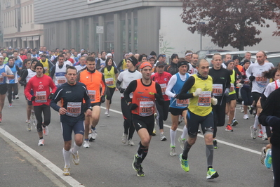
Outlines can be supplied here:
M255 25L269 27L266 19L274 17L274 6L268 0L181 0L182 22L194 33L199 30L203 36L220 47L232 46L241 51L244 46L253 46L262 39ZM271 0L279 1L279 0ZM201 24L204 23L204 24Z

